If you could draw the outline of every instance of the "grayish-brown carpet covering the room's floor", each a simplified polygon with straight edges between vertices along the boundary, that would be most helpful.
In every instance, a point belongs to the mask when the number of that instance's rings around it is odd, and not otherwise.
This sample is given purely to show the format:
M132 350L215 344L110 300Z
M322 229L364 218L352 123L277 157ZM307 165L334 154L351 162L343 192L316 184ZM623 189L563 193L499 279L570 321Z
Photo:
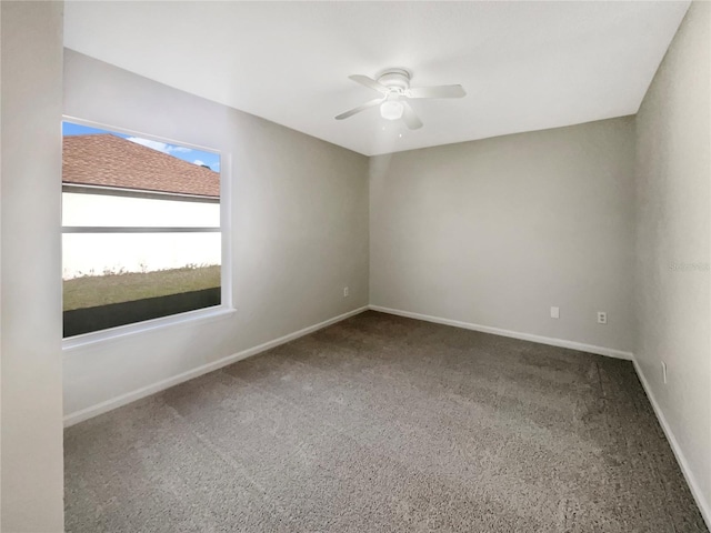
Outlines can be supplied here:
M632 364L365 312L66 432L68 532L705 532Z

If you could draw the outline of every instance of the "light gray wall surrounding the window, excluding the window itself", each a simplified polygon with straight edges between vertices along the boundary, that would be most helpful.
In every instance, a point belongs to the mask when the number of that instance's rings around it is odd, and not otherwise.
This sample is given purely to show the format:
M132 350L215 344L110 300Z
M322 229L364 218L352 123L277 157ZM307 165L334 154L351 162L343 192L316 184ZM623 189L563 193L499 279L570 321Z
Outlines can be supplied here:
M66 413L368 304L365 157L71 50L64 113L214 148L226 167L231 160L237 308L212 322L66 351Z

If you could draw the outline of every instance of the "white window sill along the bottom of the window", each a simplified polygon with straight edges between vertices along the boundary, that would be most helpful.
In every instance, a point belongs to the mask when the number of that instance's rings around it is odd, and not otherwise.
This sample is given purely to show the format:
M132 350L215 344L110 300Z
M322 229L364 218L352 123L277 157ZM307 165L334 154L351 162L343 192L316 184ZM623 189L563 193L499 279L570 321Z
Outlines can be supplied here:
M163 316L161 319L147 320L137 324L120 325L110 330L96 331L81 335L70 336L62 340L62 352L71 352L76 349L110 342L117 339L123 339L140 333L154 330L162 330L176 325L193 325L200 323L209 323L216 320L222 320L231 316L237 312L233 308L227 305L217 305L210 309L200 309L197 311L188 311L187 313Z

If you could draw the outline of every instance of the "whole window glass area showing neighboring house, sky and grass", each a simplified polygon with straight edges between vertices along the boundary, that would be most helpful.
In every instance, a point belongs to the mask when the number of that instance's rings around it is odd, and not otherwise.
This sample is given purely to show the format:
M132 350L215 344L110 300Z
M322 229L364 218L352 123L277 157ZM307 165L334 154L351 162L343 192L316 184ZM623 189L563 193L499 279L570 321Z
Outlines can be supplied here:
M219 153L62 133L64 338L220 305Z

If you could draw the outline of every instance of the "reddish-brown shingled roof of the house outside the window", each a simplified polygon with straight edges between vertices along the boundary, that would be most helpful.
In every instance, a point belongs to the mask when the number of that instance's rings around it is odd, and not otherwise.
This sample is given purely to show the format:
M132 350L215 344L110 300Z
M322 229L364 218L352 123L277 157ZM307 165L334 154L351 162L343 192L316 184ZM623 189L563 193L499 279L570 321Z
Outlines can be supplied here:
M220 174L110 133L68 135L62 183L220 197Z

